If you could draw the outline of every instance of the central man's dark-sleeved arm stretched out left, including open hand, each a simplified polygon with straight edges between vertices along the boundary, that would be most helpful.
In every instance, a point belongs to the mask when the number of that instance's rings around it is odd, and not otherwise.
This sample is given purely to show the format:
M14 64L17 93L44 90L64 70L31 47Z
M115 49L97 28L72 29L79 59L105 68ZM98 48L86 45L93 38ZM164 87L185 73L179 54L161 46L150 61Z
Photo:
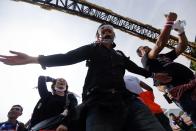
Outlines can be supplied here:
M10 51L13 56L0 55L0 62L6 65L41 64L43 68L52 66L71 65L88 59L93 45L85 45L65 54L33 57L25 53Z

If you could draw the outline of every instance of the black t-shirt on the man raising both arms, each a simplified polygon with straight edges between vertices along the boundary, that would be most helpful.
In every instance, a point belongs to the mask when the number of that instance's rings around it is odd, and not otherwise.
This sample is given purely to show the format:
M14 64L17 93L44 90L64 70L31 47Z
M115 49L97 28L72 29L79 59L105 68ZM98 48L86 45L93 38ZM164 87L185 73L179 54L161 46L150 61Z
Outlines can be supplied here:
M145 69L151 72L166 72L172 76L172 81L168 84L177 86L185 84L194 78L193 72L186 66L173 62L177 58L175 50L166 54L159 54L156 59L149 59L148 54L142 57L142 64ZM155 86L161 84L154 81Z

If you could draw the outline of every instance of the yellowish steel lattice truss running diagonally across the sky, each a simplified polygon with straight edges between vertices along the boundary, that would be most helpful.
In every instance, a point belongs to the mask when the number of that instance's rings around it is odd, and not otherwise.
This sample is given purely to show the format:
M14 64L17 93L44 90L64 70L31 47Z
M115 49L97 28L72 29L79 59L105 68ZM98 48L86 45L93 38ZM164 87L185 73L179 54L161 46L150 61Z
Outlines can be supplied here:
M149 40L150 42L155 43L158 36L160 35L160 30L156 29L150 25L142 24L133 19L123 17L118 15L111 10L105 9L103 7L94 5L92 3L82 1L82 0L14 0L14 1L23 1L31 4L39 5L44 9L56 9L62 12L78 15L80 17L88 18L90 20L100 22L100 23L109 23L115 28L120 29L126 33L137 36L141 39ZM170 35L168 40L167 47L173 49L178 44L178 39L175 36ZM184 56L187 58L196 61L196 44L189 42L189 45L185 52Z

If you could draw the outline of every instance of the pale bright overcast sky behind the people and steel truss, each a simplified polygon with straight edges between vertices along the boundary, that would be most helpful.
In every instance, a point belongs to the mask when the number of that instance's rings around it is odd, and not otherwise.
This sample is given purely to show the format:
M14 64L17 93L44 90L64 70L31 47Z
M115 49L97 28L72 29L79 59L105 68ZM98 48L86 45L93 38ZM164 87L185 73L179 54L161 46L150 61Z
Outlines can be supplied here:
M187 37L189 41L194 41L195 0L89 0L89 2L156 28L163 27L165 13L174 11L179 15L179 19L187 21ZM28 3L0 0L0 54L8 55L9 50L33 56L66 53L95 41L95 32L99 25L100 23L88 19L55 10L44 10ZM153 46L153 44L119 30L115 32L116 48L141 66L135 50L140 45ZM179 57L177 61L186 66L190 63L184 57ZM33 108L39 100L38 91L35 89L39 75L63 77L68 81L69 90L81 96L86 71L85 62L47 70L42 70L40 65L7 66L0 63L0 122L7 120L7 112L13 104L21 104L24 108L19 120L25 123L31 117ZM138 77L152 86L150 79ZM163 108L176 108L174 104L167 104L155 87L154 90L156 101Z

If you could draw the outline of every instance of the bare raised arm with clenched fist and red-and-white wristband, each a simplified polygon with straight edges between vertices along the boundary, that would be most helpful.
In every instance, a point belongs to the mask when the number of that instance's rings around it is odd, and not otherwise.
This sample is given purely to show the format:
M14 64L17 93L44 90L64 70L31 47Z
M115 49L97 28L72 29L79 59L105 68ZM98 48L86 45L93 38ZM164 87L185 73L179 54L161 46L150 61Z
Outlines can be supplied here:
M173 22L177 19L177 14L170 12L167 17L167 22ZM148 57L150 59L155 59L156 56L162 51L162 49L165 47L169 36L170 32L172 29L172 24L164 26L163 30L161 31L159 38L156 41L155 46L152 48L152 50L148 53Z

